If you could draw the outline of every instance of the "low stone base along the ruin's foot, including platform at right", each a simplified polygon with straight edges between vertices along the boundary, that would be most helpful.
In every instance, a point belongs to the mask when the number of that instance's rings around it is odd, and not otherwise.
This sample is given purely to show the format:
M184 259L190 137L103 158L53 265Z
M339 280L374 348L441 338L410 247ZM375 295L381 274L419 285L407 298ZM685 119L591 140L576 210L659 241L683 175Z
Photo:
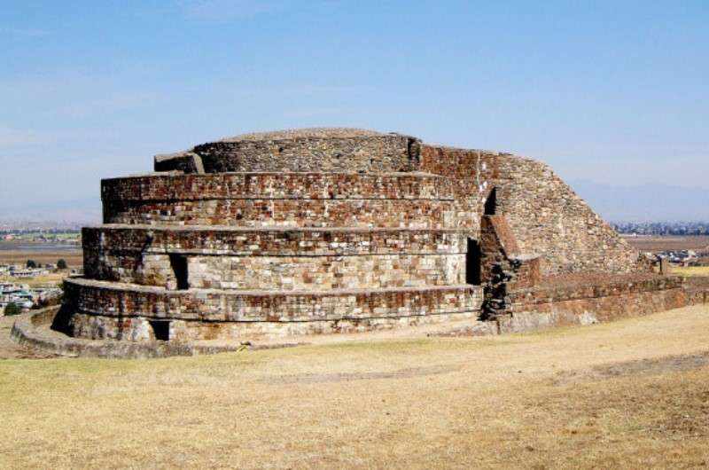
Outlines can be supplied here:
M479 320L479 311L462 315L392 317L380 322L371 322L368 318L364 323L323 320L285 326L280 322L258 325L263 322L253 321L215 322L204 326L193 321L191 323L197 331L206 328L210 334L194 340L121 341L73 337L53 330L51 324L59 309L53 307L20 317L12 328L12 338L20 344L60 356L194 356L243 349L290 348L311 343L313 335L319 333L338 333L330 335L329 343L377 341L391 337L487 336L526 333L555 326L593 325L689 305L709 305L709 278L682 279L643 274L613 278L573 275L543 280L540 286L512 294L518 302L509 315L487 321ZM88 324L93 321L87 318ZM403 336L391 334L394 329L405 330L405 333ZM192 336L199 338L199 335ZM245 341L245 338L249 340Z

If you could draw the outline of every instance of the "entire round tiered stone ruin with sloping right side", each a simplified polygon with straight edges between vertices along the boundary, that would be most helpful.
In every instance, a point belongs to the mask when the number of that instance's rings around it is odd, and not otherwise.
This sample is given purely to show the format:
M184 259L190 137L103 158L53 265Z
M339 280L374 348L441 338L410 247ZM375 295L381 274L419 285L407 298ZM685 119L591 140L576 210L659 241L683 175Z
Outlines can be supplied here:
M55 328L251 341L469 320L519 331L669 309L655 275L545 164L359 129L250 134L101 184Z

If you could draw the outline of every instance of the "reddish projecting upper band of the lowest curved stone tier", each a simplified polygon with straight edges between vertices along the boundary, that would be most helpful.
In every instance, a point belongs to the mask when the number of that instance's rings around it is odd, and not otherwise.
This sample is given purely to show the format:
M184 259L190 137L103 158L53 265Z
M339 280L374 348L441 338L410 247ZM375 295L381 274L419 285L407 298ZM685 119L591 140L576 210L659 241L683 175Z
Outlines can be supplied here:
M217 322L308 322L413 317L479 310L479 286L331 290L327 292L170 291L86 278L65 281L76 313Z

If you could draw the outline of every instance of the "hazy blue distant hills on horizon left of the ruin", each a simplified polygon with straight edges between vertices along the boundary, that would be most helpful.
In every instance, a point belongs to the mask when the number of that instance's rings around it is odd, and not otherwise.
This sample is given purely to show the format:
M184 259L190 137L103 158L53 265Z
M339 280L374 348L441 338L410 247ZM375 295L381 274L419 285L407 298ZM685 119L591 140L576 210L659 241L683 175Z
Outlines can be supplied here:
M101 200L61 200L43 203L14 204L0 202L0 221L100 223Z

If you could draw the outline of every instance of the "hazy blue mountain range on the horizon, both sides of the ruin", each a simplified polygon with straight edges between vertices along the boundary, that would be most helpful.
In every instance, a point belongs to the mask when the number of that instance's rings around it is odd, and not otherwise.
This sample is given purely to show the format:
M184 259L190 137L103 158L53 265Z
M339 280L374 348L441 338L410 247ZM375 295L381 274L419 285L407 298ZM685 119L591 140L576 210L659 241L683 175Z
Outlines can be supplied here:
M613 186L572 180L573 190L610 222L709 221L709 189L666 184ZM0 221L100 223L101 201L0 203Z

